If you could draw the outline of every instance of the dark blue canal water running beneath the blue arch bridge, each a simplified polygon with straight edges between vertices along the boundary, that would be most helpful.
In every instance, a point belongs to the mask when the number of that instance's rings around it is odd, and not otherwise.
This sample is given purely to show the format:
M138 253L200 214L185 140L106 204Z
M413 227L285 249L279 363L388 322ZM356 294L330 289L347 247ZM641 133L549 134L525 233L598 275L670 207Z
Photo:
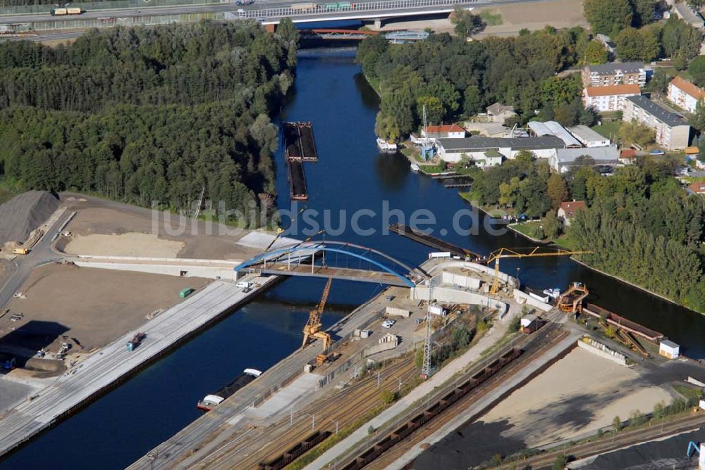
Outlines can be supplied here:
M489 253L501 247L529 246L508 232L491 236L458 234L451 229L458 210L468 210L457 189L410 171L402 155L381 155L375 145L374 119L379 99L354 63L355 49L309 49L300 52L295 90L282 111L283 120L307 120L314 125L319 163L305 166L310 200L305 206L332 210L329 227L347 227L327 239L359 243L381 250L402 262L417 265L429 249L395 234L381 234L388 211L399 210L410 222L416 210L436 218L436 236ZM288 208L288 184L283 156L278 155L278 207ZM300 205L302 207L302 205ZM350 227L355 210L371 209L374 217L361 217L365 236ZM340 210L347 210L345 217ZM479 217L482 224L484 217ZM305 228L300 221L300 229ZM465 217L461 226L467 229ZM448 232L441 235L441 230ZM335 230L333 230L335 231ZM352 266L351 266L352 267ZM683 345L692 357L705 356L705 317L676 307L636 288L613 281L567 258L534 258L504 262L503 271L518 273L523 283L536 287L565 287L582 281L591 300L608 310L662 331ZM142 371L127 383L82 412L25 445L0 462L0 469L121 469L145 455L199 416L195 408L203 395L231 381L246 367L265 370L300 346L308 310L321 295L324 279L288 279L176 352ZM326 325L336 322L381 290L382 286L333 281Z

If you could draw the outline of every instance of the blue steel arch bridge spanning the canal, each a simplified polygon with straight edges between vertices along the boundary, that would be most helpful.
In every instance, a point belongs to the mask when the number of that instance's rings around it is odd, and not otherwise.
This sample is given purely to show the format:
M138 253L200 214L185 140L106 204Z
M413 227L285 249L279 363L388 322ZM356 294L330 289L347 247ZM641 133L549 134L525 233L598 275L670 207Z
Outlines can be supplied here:
M306 241L268 250L234 268L236 273L333 277L414 287L428 275L374 248L342 241Z

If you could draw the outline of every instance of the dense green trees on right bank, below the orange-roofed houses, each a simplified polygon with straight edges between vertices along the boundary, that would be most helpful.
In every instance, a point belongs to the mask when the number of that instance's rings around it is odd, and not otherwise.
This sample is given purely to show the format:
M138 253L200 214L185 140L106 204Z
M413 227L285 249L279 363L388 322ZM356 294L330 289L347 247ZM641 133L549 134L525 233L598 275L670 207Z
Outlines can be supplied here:
M639 157L604 177L589 157L558 174L522 151L475 170L472 197L517 216L545 215L532 236L556 239L567 231L575 248L593 252L582 255L588 265L705 312L705 204L672 176L679 160ZM587 210L563 227L556 210L571 200Z

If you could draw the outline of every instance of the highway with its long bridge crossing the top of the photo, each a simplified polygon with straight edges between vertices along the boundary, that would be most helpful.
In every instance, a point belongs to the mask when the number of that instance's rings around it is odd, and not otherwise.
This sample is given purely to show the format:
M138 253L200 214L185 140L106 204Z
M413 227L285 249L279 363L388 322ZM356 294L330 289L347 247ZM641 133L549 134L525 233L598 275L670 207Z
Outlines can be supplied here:
M201 0L163 0L150 1L149 4L142 0L72 3L71 6L80 6L85 13L65 16L52 16L49 13L51 6L0 8L0 30L11 33L82 30L117 25L192 23L203 19L250 19L274 27L282 18L291 18L294 23L381 21L388 18L450 13L456 5L472 8L497 3L496 0L372 0L336 8L324 8L321 3L316 8L300 9L292 8L300 3L297 0L258 0L249 6L238 6L235 2L192 4L192 1ZM109 8L113 5L115 8Z

